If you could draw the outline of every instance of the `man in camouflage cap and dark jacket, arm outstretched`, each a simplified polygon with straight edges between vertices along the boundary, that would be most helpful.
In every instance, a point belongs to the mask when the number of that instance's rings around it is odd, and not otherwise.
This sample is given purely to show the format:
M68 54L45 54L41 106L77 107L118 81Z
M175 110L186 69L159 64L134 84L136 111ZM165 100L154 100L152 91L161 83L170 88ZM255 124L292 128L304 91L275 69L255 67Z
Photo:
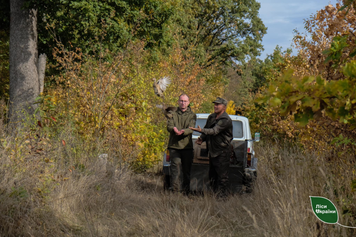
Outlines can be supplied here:
M198 145L206 141L209 150L210 186L224 195L229 187L231 141L234 138L233 121L225 112L227 100L218 97L213 103L215 104L214 113L209 115L204 128L200 126L190 128L201 133L196 141Z

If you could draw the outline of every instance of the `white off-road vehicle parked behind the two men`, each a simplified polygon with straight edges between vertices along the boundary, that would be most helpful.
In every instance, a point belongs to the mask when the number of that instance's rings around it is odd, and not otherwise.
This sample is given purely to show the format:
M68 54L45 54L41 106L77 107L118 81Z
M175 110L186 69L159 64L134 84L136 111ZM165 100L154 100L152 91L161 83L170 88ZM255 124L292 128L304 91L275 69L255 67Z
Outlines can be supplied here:
M196 125L204 127L209 114L197 114ZM260 134L255 133L254 139L251 137L248 119L242 116L230 115L233 120L234 139L231 142L232 155L230 158L229 182L233 192L240 192L242 185L246 186L246 192L251 191L251 183L257 177L257 158L254 157L253 142L259 141ZM207 190L209 184L209 151L206 144L195 144L195 140L200 136L199 132L192 135L194 144L194 158L190 172L190 189L195 191ZM163 156L164 189L171 188L171 163L168 149ZM180 179L181 180L181 179Z

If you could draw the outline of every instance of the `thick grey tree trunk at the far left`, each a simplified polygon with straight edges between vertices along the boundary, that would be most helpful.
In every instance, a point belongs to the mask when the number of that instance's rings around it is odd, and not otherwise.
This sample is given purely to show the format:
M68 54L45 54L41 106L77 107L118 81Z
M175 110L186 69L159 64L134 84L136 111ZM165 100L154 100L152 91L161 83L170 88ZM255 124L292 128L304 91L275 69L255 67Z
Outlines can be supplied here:
M9 119L33 114L40 94L38 80L37 10L21 9L25 0L10 0L10 103Z

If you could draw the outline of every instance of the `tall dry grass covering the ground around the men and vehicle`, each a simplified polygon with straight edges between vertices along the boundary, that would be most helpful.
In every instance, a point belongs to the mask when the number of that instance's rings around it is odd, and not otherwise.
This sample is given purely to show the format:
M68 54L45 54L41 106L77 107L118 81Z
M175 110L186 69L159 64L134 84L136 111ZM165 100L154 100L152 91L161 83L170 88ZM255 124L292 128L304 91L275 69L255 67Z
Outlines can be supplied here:
M256 144L260 159L252 193L226 200L211 193L186 197L163 191L159 167L130 171L110 152L113 141L106 147L80 140L69 126L43 139L45 134L28 128L0 131L1 237L356 235L320 222L309 200L329 198L340 223L355 226L353 156L345 163L264 142ZM102 152L107 160L98 158ZM349 214L342 215L346 208Z

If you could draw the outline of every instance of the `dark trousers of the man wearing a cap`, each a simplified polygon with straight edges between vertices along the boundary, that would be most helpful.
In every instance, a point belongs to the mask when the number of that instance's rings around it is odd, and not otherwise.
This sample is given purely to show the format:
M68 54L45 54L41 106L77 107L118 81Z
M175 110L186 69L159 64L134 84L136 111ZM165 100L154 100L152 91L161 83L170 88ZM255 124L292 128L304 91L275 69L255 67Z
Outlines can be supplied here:
M230 155L230 152L224 152L217 157L209 157L210 187L214 191L228 191Z

